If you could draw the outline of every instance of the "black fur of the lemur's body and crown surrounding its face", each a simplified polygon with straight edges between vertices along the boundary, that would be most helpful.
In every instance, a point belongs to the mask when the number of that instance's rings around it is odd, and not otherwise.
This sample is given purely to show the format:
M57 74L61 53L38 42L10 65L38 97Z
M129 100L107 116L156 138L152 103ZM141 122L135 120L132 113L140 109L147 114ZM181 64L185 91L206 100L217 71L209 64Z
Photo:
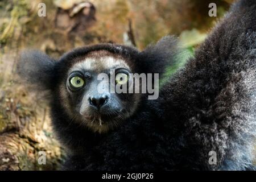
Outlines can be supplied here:
M69 152L64 169L253 169L255 9L255 0L236 3L195 57L163 86L158 100L142 98L136 114L107 134L81 127L64 112L56 88L70 60L106 49L125 57L135 72L161 73L175 56L175 41L165 38L143 52L102 44L67 53L53 66L48 61L43 70L56 78L50 87L53 126ZM41 72L43 63L37 64L35 72ZM208 162L210 151L217 153L216 165Z

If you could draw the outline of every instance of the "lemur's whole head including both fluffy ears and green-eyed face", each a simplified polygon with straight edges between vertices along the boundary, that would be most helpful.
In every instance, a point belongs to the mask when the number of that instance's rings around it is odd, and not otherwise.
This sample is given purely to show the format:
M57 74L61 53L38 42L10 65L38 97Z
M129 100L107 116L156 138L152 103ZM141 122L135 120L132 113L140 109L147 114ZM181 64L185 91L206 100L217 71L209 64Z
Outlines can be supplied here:
M67 114L70 122L106 133L129 121L144 102L142 94L113 92L112 86L129 90L135 84L130 73L163 73L167 64L174 64L175 44L174 38L165 37L142 52L98 44L65 53L58 61L38 51L26 51L18 72L40 89L49 90L52 101L59 103L59 108L52 109Z

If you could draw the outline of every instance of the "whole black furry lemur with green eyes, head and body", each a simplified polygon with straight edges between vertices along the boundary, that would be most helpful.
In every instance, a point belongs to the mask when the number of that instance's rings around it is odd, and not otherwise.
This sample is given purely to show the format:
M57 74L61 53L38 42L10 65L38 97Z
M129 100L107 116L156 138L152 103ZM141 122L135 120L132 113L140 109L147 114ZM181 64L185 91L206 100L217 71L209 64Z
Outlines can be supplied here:
M254 169L255 10L255 0L235 3L156 100L148 93L98 93L97 76L114 70L123 84L129 73L163 75L179 54L173 36L144 51L97 44L57 61L23 52L19 75L51 94L53 128L68 154L63 169Z

